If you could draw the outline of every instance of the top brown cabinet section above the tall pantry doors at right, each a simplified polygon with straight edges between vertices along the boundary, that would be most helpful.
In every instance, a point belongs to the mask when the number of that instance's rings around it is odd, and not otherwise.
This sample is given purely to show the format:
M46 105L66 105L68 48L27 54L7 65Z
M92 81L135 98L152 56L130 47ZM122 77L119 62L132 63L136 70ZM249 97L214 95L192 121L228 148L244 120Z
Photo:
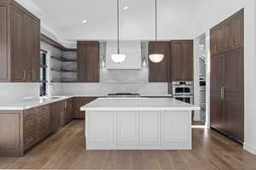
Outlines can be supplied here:
M211 54L217 55L243 45L243 10L211 29Z

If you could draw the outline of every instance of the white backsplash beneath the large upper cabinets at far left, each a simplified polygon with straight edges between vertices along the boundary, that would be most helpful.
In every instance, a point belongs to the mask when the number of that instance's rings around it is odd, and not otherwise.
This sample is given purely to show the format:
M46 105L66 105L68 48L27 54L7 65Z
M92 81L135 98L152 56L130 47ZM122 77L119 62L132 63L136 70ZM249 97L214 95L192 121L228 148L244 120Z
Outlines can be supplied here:
M0 105L18 103L25 99L36 99L39 94L38 83L0 83Z

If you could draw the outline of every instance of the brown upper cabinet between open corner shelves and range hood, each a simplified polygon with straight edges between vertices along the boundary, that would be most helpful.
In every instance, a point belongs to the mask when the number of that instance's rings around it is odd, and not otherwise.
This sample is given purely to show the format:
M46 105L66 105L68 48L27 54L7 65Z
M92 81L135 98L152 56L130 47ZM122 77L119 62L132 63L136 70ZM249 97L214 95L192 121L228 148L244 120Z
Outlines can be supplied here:
M99 82L99 42L78 42L78 82Z

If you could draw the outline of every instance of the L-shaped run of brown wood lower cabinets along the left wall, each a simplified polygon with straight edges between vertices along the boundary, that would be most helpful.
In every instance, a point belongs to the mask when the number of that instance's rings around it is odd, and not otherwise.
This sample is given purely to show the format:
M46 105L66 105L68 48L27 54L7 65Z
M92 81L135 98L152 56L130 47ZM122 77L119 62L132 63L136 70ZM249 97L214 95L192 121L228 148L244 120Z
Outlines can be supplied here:
M0 111L0 157L24 156L33 145L81 118L80 106L96 98L72 98L25 111Z

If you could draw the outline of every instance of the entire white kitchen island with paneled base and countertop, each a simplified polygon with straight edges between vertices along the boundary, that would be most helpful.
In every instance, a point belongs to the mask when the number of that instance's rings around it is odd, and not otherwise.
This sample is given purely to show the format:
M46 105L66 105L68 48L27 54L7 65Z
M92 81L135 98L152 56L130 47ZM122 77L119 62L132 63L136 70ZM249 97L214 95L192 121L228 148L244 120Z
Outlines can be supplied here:
M191 112L176 99L100 98L85 113L86 150L191 150Z

